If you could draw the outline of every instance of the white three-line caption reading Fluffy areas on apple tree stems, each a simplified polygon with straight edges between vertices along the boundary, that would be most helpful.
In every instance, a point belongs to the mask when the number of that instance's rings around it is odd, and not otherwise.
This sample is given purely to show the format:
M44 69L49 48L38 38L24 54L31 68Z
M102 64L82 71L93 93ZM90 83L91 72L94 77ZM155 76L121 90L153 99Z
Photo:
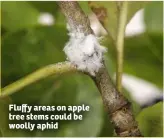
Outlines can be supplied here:
M28 104L9 105L9 129L33 131L59 129L61 121L83 120L90 106L31 106Z

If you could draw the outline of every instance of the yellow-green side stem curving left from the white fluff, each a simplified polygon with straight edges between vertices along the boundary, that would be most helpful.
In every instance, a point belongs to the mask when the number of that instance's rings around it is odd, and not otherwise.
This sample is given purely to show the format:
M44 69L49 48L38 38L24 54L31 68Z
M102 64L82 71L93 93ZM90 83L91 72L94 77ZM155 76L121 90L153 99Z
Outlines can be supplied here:
M27 75L26 77L2 88L0 97L10 95L14 92L17 92L38 80L44 79L51 75L59 75L66 72L77 71L76 68L70 62L61 62L57 64L51 64L44 68L41 68L32 74Z

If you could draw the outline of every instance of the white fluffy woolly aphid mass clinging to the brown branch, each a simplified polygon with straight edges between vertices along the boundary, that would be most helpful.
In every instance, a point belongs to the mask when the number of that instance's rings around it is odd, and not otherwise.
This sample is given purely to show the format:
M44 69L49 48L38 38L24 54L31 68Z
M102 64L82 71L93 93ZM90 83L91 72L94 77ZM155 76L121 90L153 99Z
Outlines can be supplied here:
M73 63L79 70L89 72L95 76L95 72L103 66L103 54L107 49L101 46L98 39L93 34L84 35L81 27L73 30L69 26L70 40L64 47L67 59Z

